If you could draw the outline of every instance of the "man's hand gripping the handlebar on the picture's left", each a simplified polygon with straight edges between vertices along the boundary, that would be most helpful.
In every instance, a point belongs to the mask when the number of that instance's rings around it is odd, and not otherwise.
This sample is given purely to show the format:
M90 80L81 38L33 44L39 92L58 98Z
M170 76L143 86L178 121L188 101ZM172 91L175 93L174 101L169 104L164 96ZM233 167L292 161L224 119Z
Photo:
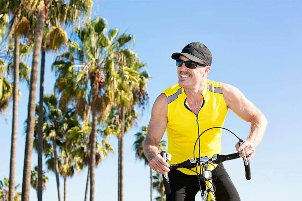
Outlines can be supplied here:
M171 161L171 157L172 155L167 153L167 160ZM155 156L152 157L151 161L150 161L150 168L152 168L153 170L157 171L160 174L166 174L166 172L169 172L170 169L170 165L169 163L167 163L162 156L160 155L160 153L156 154Z

